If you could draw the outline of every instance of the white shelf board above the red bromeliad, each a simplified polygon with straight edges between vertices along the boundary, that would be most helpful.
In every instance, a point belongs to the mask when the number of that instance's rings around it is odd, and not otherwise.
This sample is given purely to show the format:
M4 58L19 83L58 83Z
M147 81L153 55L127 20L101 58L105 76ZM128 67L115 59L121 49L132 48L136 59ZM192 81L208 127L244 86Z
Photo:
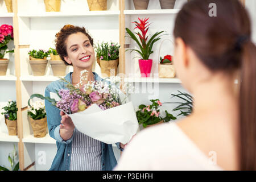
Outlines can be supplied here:
M125 15L141 15L141 14L177 14L180 9L170 10L124 10Z

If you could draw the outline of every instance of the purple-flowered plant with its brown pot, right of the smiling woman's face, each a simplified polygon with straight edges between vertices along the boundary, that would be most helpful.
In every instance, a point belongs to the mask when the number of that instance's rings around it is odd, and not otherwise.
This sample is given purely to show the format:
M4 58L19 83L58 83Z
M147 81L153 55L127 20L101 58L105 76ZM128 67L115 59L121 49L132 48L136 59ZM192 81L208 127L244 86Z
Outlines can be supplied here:
M97 63L101 67L101 73L103 76L110 77L112 70L114 70L114 76L117 75L117 67L119 63L119 48L117 43L104 43L97 44Z

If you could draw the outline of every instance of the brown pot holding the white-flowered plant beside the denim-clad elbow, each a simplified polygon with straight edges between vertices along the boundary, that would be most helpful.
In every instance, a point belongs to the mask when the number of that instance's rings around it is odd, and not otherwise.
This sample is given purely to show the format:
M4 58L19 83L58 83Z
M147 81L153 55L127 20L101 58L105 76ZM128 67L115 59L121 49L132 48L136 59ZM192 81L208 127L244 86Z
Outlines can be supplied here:
M47 118L34 120L29 117L29 120L34 133L34 137L45 137L47 131Z

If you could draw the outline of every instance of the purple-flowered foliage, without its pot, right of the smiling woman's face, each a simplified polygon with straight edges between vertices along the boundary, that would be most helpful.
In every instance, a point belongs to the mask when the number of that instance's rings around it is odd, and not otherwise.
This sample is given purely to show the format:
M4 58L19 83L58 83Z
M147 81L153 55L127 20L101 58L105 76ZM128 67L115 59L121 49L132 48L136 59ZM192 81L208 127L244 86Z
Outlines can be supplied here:
M97 57L100 60L116 60L119 57L119 48L120 46L117 43L100 43L97 44L96 53Z

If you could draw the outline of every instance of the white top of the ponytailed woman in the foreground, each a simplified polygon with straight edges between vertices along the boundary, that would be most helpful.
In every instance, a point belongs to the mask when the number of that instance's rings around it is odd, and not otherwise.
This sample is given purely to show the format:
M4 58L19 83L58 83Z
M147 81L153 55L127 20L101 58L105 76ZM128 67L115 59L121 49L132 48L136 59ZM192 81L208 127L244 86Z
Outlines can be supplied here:
M114 170L223 170L214 159L214 152L205 155L175 122L168 122L139 132Z

